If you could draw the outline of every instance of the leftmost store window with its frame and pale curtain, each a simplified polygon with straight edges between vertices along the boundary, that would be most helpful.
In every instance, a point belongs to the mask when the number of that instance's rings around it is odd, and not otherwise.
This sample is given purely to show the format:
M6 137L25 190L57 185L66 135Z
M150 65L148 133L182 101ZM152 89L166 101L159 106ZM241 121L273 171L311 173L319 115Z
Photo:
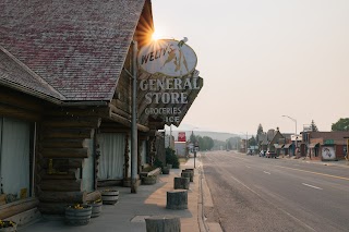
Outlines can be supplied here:
M0 205L32 196L34 127L0 117Z

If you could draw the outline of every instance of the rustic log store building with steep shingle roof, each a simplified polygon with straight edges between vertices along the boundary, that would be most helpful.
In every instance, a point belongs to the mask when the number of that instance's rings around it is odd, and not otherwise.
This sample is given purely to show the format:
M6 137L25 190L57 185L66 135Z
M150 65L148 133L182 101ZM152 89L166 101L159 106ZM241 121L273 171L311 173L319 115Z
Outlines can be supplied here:
M0 2L0 219L63 213L128 185L132 41L141 48L153 30L149 0ZM180 108L180 121L200 89L186 91L188 103L163 106ZM144 112L142 94L139 170L170 124Z

